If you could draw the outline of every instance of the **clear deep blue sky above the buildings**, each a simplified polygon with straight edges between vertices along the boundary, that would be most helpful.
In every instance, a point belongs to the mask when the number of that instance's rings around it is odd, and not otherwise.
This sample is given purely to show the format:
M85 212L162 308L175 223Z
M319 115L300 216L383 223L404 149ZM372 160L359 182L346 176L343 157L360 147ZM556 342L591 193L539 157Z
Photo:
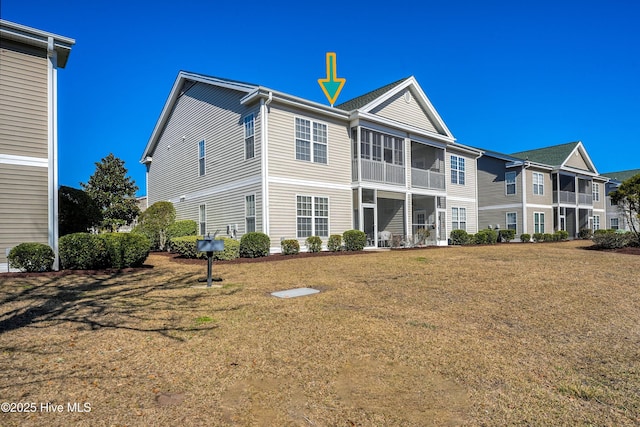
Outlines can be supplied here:
M76 39L58 73L60 184L109 153L138 163L180 70L327 103L414 75L462 144L580 140L600 172L640 168L640 1L2 0L2 19Z

